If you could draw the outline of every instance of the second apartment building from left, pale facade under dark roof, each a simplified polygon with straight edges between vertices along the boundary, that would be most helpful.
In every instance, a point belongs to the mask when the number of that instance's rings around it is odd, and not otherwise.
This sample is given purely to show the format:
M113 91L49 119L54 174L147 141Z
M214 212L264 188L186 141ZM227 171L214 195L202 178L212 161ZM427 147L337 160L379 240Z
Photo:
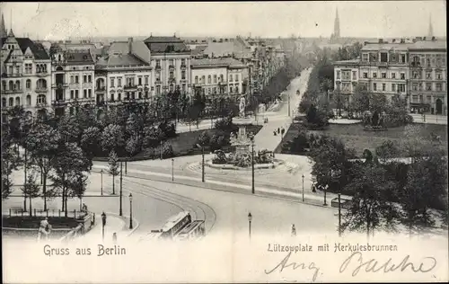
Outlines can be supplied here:
M57 115L76 114L80 107L95 104L95 68L88 49L50 48L52 104Z

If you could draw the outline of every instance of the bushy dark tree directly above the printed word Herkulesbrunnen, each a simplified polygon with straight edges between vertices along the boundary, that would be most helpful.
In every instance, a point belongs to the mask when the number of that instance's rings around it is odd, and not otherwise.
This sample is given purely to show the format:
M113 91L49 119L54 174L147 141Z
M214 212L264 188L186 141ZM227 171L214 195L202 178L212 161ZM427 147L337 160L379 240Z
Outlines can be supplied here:
M346 188L355 194L351 207L343 214L342 229L366 230L369 238L376 228L394 226L398 212L388 196L392 195L395 182L389 180L383 167L377 164L357 164L353 171L355 178Z

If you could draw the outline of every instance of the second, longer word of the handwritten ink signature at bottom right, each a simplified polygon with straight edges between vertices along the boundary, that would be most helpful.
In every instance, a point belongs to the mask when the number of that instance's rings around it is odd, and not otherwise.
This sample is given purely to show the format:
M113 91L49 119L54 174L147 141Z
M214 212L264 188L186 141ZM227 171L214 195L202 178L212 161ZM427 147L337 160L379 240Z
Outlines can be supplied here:
M348 269L349 264L356 263L356 267L354 271L352 271L352 276L356 276L358 272L365 269L365 272L392 272L392 271L405 271L409 268L409 270L418 273L426 273L428 271L432 271L436 267L436 259L431 256L427 256L421 260L421 262L413 263L409 262L409 255L406 255L399 264L392 263L392 258L389 258L387 262L379 263L376 259L370 259L367 262L364 262L362 253L355 252L352 253L348 259L346 259L341 266L339 267L339 272L343 273Z

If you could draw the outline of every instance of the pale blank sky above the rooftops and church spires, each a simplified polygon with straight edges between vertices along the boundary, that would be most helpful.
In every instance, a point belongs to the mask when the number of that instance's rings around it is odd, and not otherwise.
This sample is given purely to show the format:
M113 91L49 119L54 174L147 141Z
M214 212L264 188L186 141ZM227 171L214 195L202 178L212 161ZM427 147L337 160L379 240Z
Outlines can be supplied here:
M39 40L113 36L329 37L336 9L342 37L445 36L445 1L213 3L8 3L6 28Z

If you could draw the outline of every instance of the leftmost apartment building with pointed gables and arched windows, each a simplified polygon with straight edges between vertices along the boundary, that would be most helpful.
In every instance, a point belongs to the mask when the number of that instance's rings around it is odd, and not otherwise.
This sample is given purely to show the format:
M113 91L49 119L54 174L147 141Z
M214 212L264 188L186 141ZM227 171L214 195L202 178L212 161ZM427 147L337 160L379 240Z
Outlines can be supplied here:
M29 116L45 114L51 102L51 61L47 51L29 38L16 38L12 29L0 38L0 46L2 113L23 106Z

